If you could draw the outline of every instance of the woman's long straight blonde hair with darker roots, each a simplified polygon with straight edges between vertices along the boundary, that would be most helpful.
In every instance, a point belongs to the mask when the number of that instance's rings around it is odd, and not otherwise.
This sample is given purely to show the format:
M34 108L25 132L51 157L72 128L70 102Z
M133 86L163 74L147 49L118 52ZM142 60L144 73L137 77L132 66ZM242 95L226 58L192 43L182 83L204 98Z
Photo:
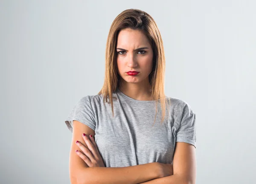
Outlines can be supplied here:
M111 24L105 52L105 79L103 87L98 95L102 94L104 96L104 104L105 102L108 102L107 100L109 98L112 114L114 115L112 92L116 91L120 82L116 63L117 37L122 29L127 28L142 31L147 36L153 49L153 69L148 78L152 89L151 95L153 100L156 100L156 115L154 123L156 121L157 103L159 99L162 109L162 123L166 115L166 103L169 104L167 105L168 109L170 106L170 101L166 99L166 95L164 93L165 55L163 40L154 19L145 11L139 9L127 9L122 11Z

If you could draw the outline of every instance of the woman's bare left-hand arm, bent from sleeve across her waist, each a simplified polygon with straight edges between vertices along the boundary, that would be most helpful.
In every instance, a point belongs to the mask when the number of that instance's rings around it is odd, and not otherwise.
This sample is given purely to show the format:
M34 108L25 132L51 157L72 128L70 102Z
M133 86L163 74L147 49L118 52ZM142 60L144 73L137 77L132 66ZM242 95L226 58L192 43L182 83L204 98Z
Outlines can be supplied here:
M73 135L70 148L70 181L71 184L138 184L154 178L163 177L160 164L157 162L129 167L88 167L76 154L80 148L76 141L85 144L82 134L95 135L93 129L79 121L73 121Z

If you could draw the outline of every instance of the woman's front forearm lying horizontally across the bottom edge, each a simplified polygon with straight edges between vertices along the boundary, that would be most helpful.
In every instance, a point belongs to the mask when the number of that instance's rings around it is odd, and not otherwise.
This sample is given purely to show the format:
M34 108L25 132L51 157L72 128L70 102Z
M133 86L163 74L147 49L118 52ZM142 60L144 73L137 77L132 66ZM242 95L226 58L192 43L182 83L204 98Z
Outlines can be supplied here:
M77 173L76 181L77 184L138 184L159 178L160 172L157 162L129 167L84 167Z

